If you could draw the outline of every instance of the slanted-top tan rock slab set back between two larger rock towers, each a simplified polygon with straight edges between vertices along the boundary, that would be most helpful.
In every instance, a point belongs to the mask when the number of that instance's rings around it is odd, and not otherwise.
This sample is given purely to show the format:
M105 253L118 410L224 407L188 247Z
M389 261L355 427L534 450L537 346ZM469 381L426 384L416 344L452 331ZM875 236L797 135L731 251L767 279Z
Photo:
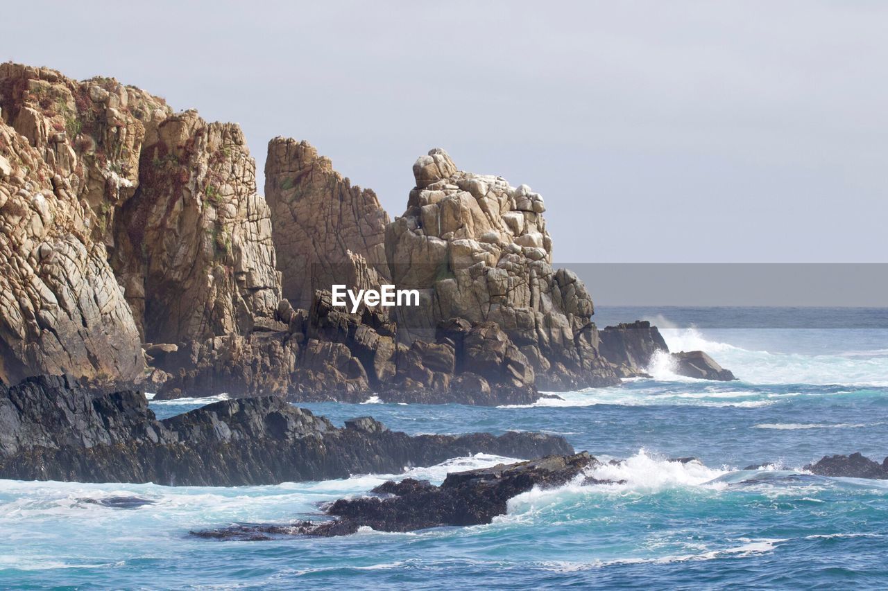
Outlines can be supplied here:
M291 138L269 142L266 199L283 296L294 306L309 308L316 290L335 283L367 288L388 282L388 214L373 191L352 186L313 146Z

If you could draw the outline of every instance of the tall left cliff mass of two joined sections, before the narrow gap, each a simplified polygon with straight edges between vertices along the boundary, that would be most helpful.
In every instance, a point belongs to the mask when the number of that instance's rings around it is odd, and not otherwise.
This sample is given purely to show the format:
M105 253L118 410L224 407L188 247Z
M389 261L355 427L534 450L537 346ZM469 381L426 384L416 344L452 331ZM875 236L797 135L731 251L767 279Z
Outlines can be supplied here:
M113 78L0 65L0 379L143 374L144 340L274 323L270 211L241 130Z

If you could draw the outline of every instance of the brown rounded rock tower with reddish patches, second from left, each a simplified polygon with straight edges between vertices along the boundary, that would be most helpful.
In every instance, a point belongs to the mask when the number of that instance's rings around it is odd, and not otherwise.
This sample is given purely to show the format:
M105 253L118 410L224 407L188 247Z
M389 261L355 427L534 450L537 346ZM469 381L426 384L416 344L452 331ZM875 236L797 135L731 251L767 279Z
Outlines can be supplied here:
M145 340L250 333L256 319L274 318L281 288L270 211L241 129L186 111L151 139L112 257Z

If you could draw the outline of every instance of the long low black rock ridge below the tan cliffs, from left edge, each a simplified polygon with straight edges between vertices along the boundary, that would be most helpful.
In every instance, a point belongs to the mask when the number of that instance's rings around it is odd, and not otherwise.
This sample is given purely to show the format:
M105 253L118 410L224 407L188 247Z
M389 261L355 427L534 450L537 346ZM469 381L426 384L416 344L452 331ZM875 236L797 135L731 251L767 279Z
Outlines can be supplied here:
M0 384L0 477L162 485L271 485L398 473L473 453L573 453L563 437L410 437L369 417L337 429L280 398L218 402L156 421L144 395L94 396L64 377Z

